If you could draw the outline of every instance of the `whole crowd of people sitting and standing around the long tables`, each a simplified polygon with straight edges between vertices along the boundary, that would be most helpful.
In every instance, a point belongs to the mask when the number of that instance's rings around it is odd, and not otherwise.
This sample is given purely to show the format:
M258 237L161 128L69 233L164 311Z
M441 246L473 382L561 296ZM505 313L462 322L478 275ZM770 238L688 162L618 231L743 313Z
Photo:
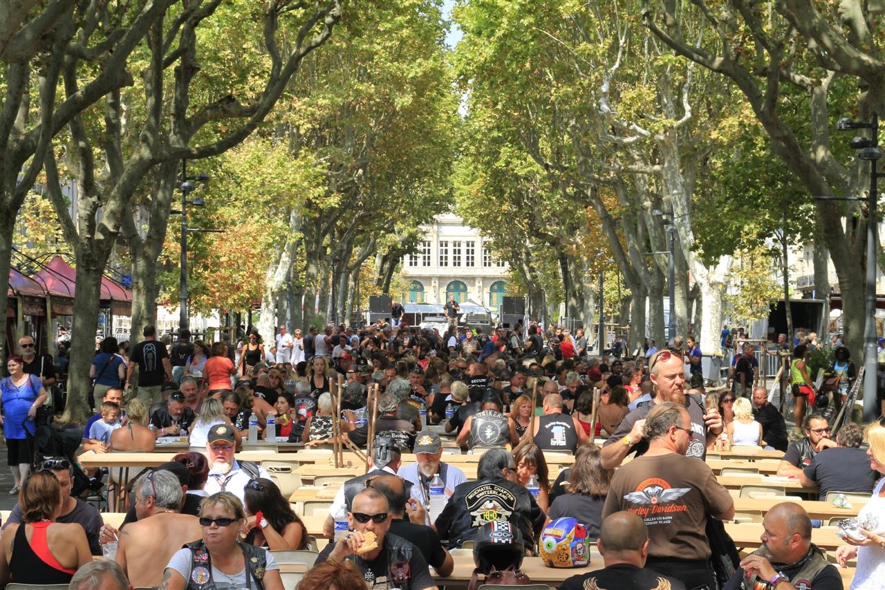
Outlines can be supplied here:
M116 542L115 561L133 586L282 587L279 566L264 549L303 549L312 539L267 471L235 458L250 423L266 439L317 446L341 437L364 448L373 423L369 471L340 488L324 527L329 542L304 578L330 587L356 587L341 586L356 578L370 588L435 587L427 566L446 576L450 550L475 540L483 526L510 522L525 552L537 555L543 527L562 517L598 540L606 566L562 587L589 587L576 585L591 578L610 586L609 580L624 580L612 587L654 587L640 581L654 576L675 588L716 587L705 529L730 519L735 507L704 458L723 439L783 451L779 475L820 485L822 496L839 490L883 497L885 426L873 424L865 433L849 424L833 440L827 417L803 407L801 431L791 442L783 415L761 387L753 345L731 330L722 341L734 353L729 386L708 391L692 337L659 349L649 341L634 356L618 338L602 357L591 357L583 330L572 335L532 324L523 339L521 326L487 335L450 322L441 332L408 326L401 315L360 330L330 325L289 335L281 326L267 341L250 329L234 344L191 341L182 331L165 345L152 326L131 350L105 338L90 373L96 415L84 429L83 451L151 452L167 436L188 437L192 447L205 449L139 477L119 530L70 495L72 462L50 458L29 473L22 429L54 373L38 371L33 357L27 364L12 356L3 415L19 516L0 539L6 556L0 581L67 582L103 545ZM22 353L33 348L28 339L19 340ZM798 408L808 349L800 342L783 350L792 357ZM835 357L834 370L850 383L850 354L837 349ZM340 412L333 398L339 389ZM376 417L369 415L374 407ZM475 480L443 462L439 431L482 453ZM601 447L592 442L596 436L605 438ZM865 439L868 450L860 448ZM558 477L546 458L556 452L575 455ZM416 461L404 464L405 453ZM636 458L622 466L631 454ZM436 477L442 508L431 502ZM649 508L661 504L672 508L667 516L650 516ZM335 539L336 521L344 520L348 532ZM727 587L749 589L748 580L770 581L799 562L820 565L806 520L794 504L770 511L763 538L769 552L743 560ZM172 542L158 544L159 536ZM859 547L837 553L842 563L858 560L852 587L873 587L865 580L885 567L879 540L885 539L870 531ZM27 558L19 555L13 566L13 551ZM815 588L842 587L832 565L812 573Z

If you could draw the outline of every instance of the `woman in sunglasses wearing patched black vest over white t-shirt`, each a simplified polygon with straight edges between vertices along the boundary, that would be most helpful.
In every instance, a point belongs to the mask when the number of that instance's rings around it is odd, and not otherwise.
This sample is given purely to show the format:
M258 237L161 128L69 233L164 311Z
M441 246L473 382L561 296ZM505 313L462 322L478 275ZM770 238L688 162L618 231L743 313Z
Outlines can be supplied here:
M161 590L256 587L283 590L280 566L262 547L239 540L246 524L242 503L229 492L214 493L200 505L203 539L188 543L169 560Z

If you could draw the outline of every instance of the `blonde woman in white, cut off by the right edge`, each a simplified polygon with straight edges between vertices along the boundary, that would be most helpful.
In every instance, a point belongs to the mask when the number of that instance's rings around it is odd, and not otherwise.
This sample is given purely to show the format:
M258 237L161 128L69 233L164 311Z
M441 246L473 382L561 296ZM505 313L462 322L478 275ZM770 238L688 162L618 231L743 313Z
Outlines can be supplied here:
M870 446L866 455L870 458L870 469L885 475L885 418L879 418L866 429L866 440ZM873 496L860 508L858 520L865 523L877 522L874 531L861 529L865 540L858 541L846 537L848 545L836 549L835 559L843 568L850 559L857 557L858 569L851 579L850 590L878 590L885 577L885 477L881 477L873 488ZM868 526L872 526L868 524Z

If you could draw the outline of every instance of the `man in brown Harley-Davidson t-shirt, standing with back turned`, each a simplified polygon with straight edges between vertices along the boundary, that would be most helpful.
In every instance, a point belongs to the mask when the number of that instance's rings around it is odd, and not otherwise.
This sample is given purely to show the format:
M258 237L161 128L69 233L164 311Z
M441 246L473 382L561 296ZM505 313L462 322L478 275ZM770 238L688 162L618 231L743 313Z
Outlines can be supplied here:
M656 404L644 426L649 449L615 471L603 517L620 510L641 516L649 529L648 567L687 588L714 588L706 524L711 516L735 516L735 501L705 462L686 456L691 418L682 404Z

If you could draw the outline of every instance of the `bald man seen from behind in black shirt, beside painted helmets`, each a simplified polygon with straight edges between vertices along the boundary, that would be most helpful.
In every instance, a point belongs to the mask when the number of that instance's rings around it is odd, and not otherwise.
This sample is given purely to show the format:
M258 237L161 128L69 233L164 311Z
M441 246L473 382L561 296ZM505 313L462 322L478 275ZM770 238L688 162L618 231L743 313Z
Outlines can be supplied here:
M684 590L678 579L645 567L649 555L649 530L632 512L615 512L603 522L596 547L603 555L602 570L566 579L559 590L618 588L619 590Z

